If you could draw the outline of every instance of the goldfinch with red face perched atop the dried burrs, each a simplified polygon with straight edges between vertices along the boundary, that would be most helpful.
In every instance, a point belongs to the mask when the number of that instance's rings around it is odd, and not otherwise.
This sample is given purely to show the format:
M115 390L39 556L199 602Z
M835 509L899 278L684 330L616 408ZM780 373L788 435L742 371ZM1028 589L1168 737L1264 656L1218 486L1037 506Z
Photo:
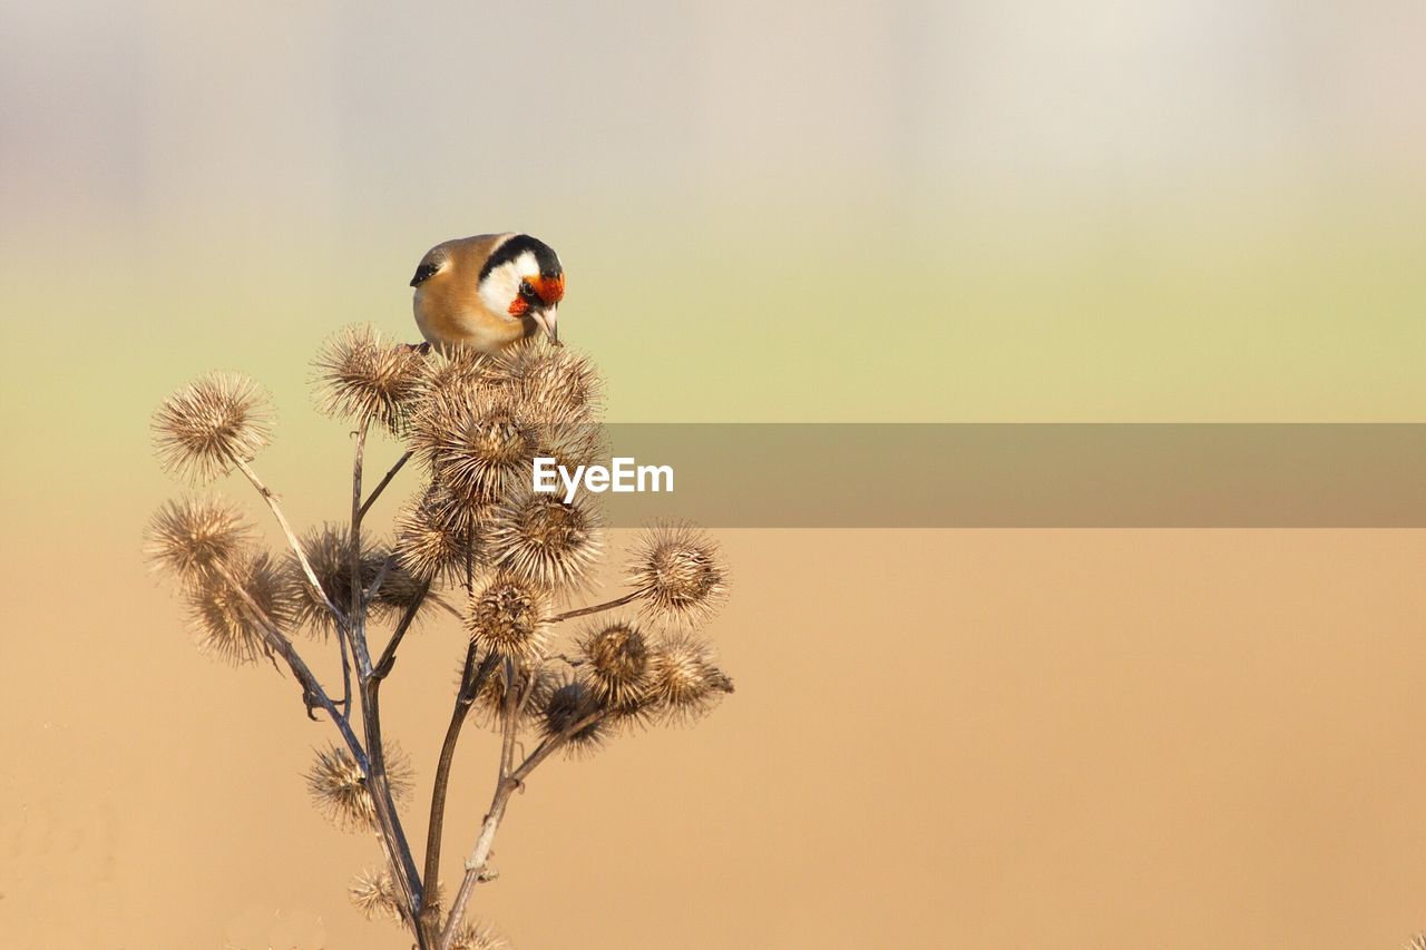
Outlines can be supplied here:
M426 342L498 354L540 331L559 345L565 268L529 234L476 234L426 251L411 278Z

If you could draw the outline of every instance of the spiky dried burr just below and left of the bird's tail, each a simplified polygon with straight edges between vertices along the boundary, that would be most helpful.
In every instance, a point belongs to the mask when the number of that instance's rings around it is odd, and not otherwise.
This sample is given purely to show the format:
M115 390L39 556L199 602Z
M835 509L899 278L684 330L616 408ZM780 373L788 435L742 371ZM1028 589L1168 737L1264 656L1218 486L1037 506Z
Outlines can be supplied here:
M345 327L312 359L322 411L401 434L422 391L419 351L372 327Z

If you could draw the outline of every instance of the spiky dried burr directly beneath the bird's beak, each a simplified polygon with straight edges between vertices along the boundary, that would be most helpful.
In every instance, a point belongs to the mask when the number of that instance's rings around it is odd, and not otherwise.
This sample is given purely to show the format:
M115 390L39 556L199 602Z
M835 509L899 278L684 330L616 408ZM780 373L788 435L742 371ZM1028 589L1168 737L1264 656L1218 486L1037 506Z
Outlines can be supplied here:
M589 358L543 337L501 351L489 375L508 387L522 414L535 422L593 422L603 385Z

